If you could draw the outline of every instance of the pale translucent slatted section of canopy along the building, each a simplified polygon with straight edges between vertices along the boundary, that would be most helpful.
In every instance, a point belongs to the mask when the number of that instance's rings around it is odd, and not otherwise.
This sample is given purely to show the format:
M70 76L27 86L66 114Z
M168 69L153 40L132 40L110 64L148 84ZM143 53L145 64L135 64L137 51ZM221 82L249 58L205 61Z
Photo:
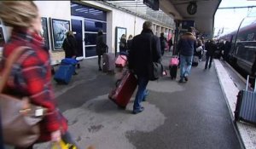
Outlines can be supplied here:
M118 9L128 11L131 14L136 14L137 16L141 16L147 20L154 20L154 22L157 22L162 26L167 26L172 29L175 28L175 23L172 16L166 14L161 9L150 9L146 4L143 3L143 0L106 0L104 3L108 3Z

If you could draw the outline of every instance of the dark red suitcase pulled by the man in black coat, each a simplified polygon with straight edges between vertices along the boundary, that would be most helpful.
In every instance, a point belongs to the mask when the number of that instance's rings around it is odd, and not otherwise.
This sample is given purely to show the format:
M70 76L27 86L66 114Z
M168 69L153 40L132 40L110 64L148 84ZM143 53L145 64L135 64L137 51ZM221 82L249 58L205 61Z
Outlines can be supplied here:
M136 88L137 78L127 70L122 78L116 82L116 88L109 93L108 98L113 100L119 107L125 109Z

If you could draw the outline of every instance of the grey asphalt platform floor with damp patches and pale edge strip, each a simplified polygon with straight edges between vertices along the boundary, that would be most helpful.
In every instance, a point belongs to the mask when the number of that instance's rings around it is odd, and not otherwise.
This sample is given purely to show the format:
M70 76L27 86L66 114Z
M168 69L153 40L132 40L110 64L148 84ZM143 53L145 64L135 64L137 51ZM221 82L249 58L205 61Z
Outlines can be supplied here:
M170 58L170 53L163 57L166 69ZM53 80L55 96L81 148L256 148L255 128L245 123L237 123L236 128L233 123L239 90L234 77L220 60L214 60L211 69L204 70L204 64L201 61L192 67L187 83L178 83L178 74L171 80L169 73L149 82L145 110L137 115L131 113L135 94L125 110L108 100L120 72L99 72L97 59L81 61L79 74L68 85ZM49 146L44 143L35 148Z

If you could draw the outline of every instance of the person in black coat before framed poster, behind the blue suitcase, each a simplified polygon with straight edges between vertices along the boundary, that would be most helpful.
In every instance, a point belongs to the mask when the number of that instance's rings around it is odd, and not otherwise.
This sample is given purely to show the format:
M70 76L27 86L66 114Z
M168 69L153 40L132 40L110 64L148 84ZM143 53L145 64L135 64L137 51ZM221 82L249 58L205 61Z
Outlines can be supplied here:
M62 48L65 51L65 58L76 58L78 54L78 43L72 31L66 33L66 38L62 43Z

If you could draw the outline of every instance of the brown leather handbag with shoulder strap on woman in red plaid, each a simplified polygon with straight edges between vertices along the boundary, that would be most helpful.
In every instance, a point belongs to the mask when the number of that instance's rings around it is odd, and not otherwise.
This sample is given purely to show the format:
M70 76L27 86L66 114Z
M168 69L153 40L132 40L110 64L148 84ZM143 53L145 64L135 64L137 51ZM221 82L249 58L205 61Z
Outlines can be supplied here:
M29 103L27 97L19 99L12 95L3 94L3 88L15 60L28 47L19 47L6 61L0 82L0 108L5 144L17 147L31 146L40 135L39 122L46 109Z

